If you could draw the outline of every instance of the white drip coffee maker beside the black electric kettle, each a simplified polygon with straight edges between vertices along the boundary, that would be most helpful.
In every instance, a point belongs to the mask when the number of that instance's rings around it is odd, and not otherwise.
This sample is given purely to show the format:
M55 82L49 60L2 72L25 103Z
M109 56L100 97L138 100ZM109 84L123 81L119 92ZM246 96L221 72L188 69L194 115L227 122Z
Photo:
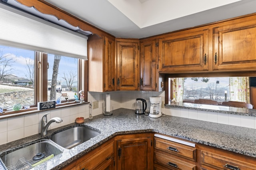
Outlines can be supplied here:
M162 107L162 98L158 96L149 97L151 103L149 117L160 117L162 116L161 107Z

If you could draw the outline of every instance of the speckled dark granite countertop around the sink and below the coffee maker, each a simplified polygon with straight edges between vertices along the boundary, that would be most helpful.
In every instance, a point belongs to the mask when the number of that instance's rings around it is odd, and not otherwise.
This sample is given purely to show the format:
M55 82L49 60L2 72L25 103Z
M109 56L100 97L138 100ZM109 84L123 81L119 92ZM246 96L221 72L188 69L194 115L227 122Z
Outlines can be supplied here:
M36 166L34 170L57 170L76 158L89 152L100 144L108 141L115 135L128 133L156 132L195 143L230 150L232 152L256 157L256 129L224 125L194 119L174 116L161 116L151 118L146 115L136 115L132 109L116 109L113 115L97 115L93 119L86 119L85 126L98 129L100 135L86 141L70 150L64 150L60 155ZM48 131L48 136L56 131L77 126L76 123ZM78 125L81 126L81 125ZM40 135L33 135L18 141L0 145L0 151L23 145L25 143L42 139ZM0 167L1 170L1 167Z

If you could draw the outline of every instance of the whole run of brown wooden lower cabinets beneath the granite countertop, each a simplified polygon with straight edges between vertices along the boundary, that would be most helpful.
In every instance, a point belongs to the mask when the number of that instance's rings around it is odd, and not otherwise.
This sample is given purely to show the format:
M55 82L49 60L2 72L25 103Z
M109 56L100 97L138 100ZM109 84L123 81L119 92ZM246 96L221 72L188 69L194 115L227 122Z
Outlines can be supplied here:
M252 156L159 135L118 135L62 170L256 170Z

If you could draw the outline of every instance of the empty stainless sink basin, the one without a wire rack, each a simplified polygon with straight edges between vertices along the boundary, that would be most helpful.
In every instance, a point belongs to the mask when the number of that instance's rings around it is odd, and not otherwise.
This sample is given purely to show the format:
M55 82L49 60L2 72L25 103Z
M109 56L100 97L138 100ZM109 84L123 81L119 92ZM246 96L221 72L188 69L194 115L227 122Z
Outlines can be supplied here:
M72 149L99 134L100 132L96 130L80 126L56 133L52 135L51 140L66 149Z

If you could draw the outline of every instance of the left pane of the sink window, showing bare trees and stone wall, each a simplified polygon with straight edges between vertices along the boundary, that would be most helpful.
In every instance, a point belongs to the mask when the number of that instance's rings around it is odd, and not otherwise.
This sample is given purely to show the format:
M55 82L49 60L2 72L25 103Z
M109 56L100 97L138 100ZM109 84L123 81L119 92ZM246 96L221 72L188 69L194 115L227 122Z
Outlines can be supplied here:
M0 45L0 106L35 105L35 52Z

